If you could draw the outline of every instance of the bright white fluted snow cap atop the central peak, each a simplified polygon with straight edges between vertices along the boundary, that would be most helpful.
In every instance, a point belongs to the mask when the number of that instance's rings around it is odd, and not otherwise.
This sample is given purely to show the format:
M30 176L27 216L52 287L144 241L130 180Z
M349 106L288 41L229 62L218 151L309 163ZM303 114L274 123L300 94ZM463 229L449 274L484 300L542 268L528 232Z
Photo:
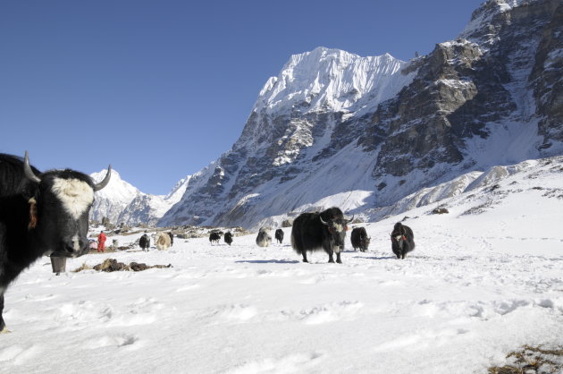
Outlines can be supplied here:
M405 86L398 72L405 62L389 54L361 57L339 49L317 47L292 55L277 77L270 78L260 91L255 109L269 111L307 102L308 110L330 107L334 111L350 106L370 93L370 101L391 98Z

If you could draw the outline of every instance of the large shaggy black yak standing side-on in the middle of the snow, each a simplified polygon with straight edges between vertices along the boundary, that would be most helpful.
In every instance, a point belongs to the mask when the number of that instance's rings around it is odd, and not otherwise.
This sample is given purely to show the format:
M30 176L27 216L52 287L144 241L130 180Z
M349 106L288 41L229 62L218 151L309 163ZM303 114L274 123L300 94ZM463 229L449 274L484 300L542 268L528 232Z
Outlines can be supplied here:
M336 253L336 262L340 260L340 251L344 250L344 239L351 219L342 214L340 208L328 208L321 213L303 213L295 218L291 229L291 247L307 261L307 251L324 249L329 255L329 262L334 262L332 253Z

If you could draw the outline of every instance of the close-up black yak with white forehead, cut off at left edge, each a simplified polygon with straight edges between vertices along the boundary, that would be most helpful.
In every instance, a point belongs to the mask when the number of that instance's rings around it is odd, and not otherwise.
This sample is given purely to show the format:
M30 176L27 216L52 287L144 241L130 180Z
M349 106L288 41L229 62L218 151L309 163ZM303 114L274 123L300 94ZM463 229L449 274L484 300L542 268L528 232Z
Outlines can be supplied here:
M70 169L40 173L20 157L0 154L0 332L8 285L43 255L79 257L88 253L88 213L94 192L109 183L94 183Z

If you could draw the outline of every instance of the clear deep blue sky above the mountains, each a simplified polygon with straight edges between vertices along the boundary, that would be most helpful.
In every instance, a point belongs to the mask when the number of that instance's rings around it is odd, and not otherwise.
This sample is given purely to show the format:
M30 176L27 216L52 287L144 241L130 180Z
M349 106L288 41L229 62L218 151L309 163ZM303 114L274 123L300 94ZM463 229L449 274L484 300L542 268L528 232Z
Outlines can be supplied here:
M481 0L3 0L0 152L108 164L165 194L231 149L265 81L315 47L408 60Z

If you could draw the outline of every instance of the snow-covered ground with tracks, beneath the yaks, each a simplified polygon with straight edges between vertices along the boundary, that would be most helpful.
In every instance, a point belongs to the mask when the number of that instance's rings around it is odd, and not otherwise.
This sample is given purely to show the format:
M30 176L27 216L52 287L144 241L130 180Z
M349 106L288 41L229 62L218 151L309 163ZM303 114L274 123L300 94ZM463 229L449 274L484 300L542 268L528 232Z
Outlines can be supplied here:
M175 238L67 262L173 267L138 273L55 276L40 259L5 294L0 373L473 373L563 345L562 173L538 163L443 201L449 214L366 224L369 251L347 239L341 265L300 262L290 229L265 249ZM404 216L416 250L399 260L389 233Z

